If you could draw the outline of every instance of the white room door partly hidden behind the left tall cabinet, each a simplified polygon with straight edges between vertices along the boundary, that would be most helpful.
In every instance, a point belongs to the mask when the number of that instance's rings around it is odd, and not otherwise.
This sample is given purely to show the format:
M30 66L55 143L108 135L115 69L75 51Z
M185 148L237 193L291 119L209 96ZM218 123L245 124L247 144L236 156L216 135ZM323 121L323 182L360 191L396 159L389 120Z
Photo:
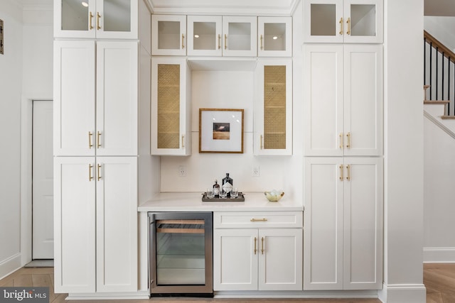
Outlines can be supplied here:
M54 258L52 103L33 101L33 259Z

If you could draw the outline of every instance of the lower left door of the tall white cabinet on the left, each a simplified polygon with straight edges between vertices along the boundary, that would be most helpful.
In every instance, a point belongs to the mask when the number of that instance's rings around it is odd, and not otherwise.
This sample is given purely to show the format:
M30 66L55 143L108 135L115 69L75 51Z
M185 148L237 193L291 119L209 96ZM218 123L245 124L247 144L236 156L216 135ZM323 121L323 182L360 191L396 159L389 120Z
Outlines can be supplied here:
M95 157L54 159L55 292L95 292Z

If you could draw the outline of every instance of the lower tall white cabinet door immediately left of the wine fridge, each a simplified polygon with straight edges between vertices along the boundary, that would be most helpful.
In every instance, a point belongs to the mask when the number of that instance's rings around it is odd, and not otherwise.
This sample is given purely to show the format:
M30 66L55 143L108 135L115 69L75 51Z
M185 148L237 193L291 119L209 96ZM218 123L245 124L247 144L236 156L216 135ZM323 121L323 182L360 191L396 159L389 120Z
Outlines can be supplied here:
M137 291L137 158L97 157L97 292Z

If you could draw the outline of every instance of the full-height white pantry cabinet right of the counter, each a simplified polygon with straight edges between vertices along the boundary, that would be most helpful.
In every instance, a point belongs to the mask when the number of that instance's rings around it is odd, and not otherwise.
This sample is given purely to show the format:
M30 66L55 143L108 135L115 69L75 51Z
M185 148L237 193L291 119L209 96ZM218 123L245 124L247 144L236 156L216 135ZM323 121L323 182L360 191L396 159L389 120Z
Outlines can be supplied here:
M377 290L382 1L304 0L304 14L304 290Z

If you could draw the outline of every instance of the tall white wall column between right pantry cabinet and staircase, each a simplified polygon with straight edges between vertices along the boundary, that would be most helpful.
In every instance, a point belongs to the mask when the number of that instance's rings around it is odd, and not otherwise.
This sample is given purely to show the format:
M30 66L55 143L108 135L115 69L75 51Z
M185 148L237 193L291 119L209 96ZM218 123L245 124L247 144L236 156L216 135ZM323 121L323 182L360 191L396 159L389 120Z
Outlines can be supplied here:
M386 302L426 300L423 67L415 64L423 57L423 16L423 0L385 1L385 275L380 295ZM406 49L413 51L403 56Z

